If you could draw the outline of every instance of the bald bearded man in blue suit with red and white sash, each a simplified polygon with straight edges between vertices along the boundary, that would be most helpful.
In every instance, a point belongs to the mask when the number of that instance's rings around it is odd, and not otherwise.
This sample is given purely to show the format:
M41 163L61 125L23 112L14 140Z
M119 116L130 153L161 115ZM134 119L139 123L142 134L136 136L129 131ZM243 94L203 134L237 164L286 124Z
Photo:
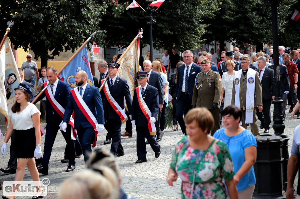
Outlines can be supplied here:
M84 162L92 152L91 144L96 147L98 132L104 130L104 112L99 89L87 82L88 74L79 71L75 75L77 88L71 89L71 95L64 112L61 130L65 130L67 122L74 110L74 128L77 130L79 143L82 147Z

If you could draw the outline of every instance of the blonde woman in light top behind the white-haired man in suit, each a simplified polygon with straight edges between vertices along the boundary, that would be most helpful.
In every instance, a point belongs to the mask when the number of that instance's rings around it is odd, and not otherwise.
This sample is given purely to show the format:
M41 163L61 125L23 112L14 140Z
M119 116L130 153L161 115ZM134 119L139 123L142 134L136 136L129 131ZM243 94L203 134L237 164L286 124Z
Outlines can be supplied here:
M161 110L161 116L158 118L160 121L161 133L164 135L165 124L166 124L166 107L169 106L168 104L168 85L169 82L167 80L167 75L163 73L163 69L161 68L161 63L159 61L152 62L152 70L161 74L161 78L163 79L163 86L164 86L164 104L163 109ZM158 115L159 117L159 115Z

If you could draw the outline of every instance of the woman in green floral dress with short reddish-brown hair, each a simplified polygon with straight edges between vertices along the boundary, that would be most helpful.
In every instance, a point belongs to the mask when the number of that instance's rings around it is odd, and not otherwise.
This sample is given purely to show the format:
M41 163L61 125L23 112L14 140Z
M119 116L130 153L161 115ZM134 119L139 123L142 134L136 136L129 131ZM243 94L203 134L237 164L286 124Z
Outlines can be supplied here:
M177 143L167 183L182 179L181 197L193 199L238 198L227 146L208 135L214 119L206 108L193 108L185 116L187 135ZM225 181L225 184L223 183Z

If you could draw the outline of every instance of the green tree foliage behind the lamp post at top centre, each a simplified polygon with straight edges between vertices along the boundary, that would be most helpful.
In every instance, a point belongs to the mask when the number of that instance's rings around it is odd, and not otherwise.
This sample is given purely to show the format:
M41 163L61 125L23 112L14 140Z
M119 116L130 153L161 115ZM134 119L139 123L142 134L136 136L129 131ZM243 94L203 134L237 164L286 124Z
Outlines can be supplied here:
M144 29L144 45L149 44L149 25L145 18L147 13L140 7L125 10L132 1L118 2L117 9L116 5L109 6L107 15L102 17L101 28L107 30L105 46L128 46L140 28ZM144 0L137 0L137 3L145 10L149 5ZM198 48L203 42L201 36L207 26L202 19L204 16L213 17L217 9L216 0L166 0L153 13L156 17L156 23L152 25L153 47L172 49L176 46L179 50Z

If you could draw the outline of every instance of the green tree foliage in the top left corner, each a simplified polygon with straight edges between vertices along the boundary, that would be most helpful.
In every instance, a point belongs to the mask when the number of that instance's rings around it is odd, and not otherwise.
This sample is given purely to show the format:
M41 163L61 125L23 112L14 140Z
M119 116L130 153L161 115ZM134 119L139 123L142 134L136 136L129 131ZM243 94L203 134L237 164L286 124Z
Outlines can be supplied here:
M14 48L30 49L35 59L48 60L64 50L75 51L94 31L103 40L105 31L98 24L106 7L105 1L94 0L0 0L0 27L3 31L14 21L9 33Z

